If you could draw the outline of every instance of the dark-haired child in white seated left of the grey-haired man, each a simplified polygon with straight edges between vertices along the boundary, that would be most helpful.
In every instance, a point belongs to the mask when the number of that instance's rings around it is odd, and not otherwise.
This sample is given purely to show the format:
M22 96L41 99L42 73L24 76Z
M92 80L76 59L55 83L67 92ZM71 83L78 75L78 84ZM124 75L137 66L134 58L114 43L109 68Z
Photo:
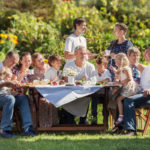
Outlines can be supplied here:
M59 55L51 55L48 58L48 63L51 66L45 73L45 79L50 81L57 81L61 78L60 66L61 57Z

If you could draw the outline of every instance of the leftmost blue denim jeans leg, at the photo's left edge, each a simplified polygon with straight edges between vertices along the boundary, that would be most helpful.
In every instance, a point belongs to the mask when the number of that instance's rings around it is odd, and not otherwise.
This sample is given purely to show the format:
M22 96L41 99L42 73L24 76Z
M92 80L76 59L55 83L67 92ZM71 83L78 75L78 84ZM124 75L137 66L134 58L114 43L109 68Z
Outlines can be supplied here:
M2 109L2 119L0 129L11 130L11 121L14 112L15 97L13 95L6 95L0 97L0 109Z

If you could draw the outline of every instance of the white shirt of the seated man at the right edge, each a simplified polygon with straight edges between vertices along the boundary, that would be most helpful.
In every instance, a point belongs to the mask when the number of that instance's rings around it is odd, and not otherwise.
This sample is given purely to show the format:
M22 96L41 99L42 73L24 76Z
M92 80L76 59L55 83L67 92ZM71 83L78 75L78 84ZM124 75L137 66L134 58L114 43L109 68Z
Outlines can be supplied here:
M150 88L150 65L143 70L140 84L143 90Z

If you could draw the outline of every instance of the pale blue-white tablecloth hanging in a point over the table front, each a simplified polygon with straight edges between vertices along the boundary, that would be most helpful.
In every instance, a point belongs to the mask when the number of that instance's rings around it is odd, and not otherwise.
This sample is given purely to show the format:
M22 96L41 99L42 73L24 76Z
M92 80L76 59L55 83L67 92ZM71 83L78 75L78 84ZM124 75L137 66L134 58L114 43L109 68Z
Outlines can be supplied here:
M102 86L36 86L37 91L54 106L79 117L86 115L90 98Z

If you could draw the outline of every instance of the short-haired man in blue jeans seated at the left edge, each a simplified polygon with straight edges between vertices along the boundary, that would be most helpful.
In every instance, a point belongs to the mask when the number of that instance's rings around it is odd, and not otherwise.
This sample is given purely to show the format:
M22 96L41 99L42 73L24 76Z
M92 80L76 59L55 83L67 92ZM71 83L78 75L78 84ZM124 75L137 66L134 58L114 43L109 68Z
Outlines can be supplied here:
M0 62L0 72L4 67L12 68L19 61L19 55L15 51L10 51L5 60ZM15 88L16 84L13 82L0 82L0 88L2 87L12 87ZM11 129L11 120L13 116L15 105L15 98L13 95L0 95L0 108L2 109L2 118L0 123L0 136L12 138L13 135L8 131Z

